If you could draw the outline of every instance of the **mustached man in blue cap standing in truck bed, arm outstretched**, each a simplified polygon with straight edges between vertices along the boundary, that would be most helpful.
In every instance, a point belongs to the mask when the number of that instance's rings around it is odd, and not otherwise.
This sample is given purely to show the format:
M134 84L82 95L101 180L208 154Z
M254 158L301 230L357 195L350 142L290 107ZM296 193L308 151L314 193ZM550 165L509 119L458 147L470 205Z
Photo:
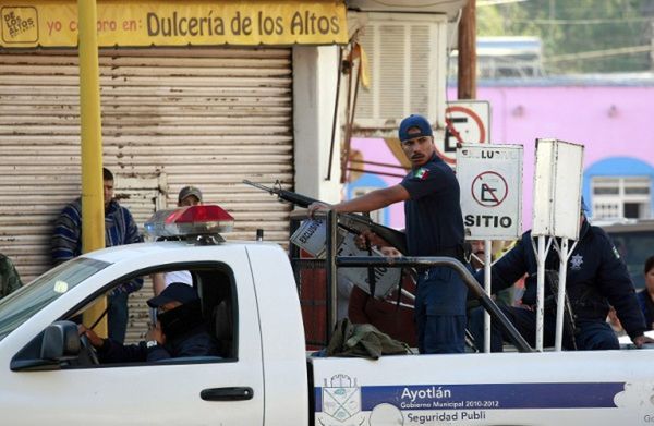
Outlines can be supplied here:
M332 206L314 203L318 210L365 212L404 202L407 244L411 256L447 256L463 261L463 219L459 182L451 168L436 155L434 134L421 115L402 120L402 150L412 169L397 185L370 192ZM374 234L372 242L389 245ZM465 299L468 289L447 267L420 271L415 321L420 353L461 353L465 350Z

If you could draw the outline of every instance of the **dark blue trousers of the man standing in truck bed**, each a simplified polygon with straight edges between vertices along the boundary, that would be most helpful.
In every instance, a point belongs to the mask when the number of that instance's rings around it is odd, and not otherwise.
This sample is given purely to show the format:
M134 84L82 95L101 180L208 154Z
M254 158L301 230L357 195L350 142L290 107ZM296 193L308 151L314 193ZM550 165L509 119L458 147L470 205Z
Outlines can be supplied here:
M415 296L415 325L420 353L465 351L468 288L457 272L434 267L420 273Z

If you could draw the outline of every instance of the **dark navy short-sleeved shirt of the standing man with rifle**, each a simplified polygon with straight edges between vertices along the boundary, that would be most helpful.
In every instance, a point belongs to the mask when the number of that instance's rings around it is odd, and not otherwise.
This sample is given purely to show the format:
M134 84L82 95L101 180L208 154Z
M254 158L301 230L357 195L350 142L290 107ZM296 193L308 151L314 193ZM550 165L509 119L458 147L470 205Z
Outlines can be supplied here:
M404 202L407 244L411 256L437 256L463 244L459 182L436 154L400 183L411 199Z

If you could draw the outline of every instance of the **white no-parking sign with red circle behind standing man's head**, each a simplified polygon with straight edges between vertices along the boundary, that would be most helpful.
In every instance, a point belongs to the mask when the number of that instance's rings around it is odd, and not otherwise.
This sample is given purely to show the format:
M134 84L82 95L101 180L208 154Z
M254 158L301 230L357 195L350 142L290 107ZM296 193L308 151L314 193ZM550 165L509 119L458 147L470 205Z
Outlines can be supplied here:
M448 165L457 162L457 145L491 142L491 105L485 100L457 100L445 109L445 137L435 141L438 156Z

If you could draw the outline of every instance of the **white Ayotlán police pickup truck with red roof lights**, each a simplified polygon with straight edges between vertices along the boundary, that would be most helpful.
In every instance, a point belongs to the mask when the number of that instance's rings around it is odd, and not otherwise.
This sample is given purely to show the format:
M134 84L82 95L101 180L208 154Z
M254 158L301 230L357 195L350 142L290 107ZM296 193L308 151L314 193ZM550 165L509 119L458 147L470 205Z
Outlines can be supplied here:
M204 207L211 226L229 221ZM180 229L201 223L189 215ZM193 240L86 254L0 301L1 423L654 424L653 351L307 356L287 253ZM98 364L71 318L117 283L180 269L192 272L221 356Z

